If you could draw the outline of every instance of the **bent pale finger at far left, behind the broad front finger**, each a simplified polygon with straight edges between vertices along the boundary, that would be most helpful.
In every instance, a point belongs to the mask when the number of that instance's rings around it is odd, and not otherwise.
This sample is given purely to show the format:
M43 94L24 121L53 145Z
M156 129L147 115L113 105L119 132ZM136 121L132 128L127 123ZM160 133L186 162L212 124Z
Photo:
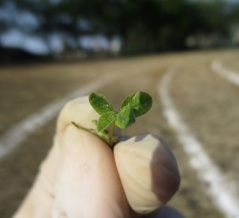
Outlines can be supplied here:
M40 167L39 174L21 206L15 213L15 218L51 217L51 207L54 198L55 177L61 151L61 141L64 130L75 121L86 128L93 128L92 119L97 118L96 112L89 104L88 97L80 97L68 102L60 112L57 121L57 134L53 147Z

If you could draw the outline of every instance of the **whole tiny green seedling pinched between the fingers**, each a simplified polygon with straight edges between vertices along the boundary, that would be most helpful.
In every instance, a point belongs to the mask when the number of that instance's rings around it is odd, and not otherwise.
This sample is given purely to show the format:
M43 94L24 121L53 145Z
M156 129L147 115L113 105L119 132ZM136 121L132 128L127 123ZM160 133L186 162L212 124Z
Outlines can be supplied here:
M98 120L93 120L96 130L85 129L75 122L76 127L98 135L111 147L117 143L114 136L115 126L125 129L135 122L135 118L147 113L152 107L152 97L145 92L136 92L124 99L119 112L116 112L109 101L101 94L93 92L89 95L89 102L100 115Z

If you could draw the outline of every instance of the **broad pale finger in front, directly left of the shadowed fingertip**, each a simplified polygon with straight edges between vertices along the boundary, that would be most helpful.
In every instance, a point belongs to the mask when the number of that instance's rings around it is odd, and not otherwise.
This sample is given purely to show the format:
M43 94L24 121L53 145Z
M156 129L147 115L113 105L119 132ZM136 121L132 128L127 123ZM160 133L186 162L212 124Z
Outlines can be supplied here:
M65 129L62 143L53 217L129 217L108 145L73 125Z

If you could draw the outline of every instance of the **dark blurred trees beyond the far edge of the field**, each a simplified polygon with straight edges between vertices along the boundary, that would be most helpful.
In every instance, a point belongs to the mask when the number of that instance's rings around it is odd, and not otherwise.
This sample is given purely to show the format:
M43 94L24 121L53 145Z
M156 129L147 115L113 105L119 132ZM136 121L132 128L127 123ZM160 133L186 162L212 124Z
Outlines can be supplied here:
M9 1L1 0L0 7ZM38 20L36 26L21 27L23 31L38 34L48 43L51 34L65 34L74 42L72 49L78 49L80 37L94 34L109 40L120 37L122 54L219 47L230 44L232 30L239 26L239 4L225 0L11 2L17 10L28 11ZM13 27L18 25L0 17L0 34Z

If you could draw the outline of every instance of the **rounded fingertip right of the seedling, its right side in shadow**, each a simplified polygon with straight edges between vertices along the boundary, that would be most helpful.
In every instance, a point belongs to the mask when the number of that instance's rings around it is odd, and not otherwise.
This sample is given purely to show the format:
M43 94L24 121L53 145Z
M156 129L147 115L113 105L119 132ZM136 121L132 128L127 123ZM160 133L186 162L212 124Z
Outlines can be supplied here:
M180 175L169 146L152 134L118 143L115 162L128 202L137 213L161 207L178 190Z

